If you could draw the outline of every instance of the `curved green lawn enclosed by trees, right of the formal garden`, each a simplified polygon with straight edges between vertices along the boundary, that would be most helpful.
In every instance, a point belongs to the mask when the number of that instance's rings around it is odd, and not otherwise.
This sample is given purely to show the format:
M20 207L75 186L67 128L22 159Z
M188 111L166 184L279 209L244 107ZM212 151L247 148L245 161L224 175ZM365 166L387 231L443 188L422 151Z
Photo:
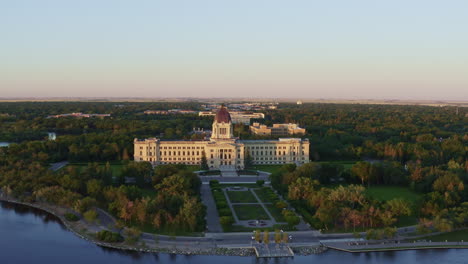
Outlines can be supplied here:
M421 197L420 194L400 186L370 186L366 188L366 193L370 197L380 201L402 198L412 205Z

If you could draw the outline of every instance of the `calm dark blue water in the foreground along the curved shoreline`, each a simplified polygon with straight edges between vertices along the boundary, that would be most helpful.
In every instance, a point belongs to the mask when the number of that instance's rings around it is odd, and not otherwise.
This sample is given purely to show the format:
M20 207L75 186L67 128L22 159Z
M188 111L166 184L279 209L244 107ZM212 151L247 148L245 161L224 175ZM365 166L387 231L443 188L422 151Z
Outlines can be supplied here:
M351 254L329 250L290 259L148 254L101 248L76 237L42 211L1 202L0 263L468 263L468 250L419 250Z

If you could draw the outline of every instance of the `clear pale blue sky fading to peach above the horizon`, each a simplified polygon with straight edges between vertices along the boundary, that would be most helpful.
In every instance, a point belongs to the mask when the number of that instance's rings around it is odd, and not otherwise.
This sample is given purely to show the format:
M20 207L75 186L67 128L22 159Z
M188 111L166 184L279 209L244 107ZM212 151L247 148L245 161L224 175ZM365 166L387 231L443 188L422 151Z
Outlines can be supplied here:
M0 0L0 97L468 100L466 0Z

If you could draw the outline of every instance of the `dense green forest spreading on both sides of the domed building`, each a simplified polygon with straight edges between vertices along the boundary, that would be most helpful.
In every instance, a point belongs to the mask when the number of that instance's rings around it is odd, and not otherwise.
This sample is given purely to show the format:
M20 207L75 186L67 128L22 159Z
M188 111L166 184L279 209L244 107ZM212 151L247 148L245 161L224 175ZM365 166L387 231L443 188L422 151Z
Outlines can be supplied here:
M10 145L0 148L0 187L91 218L99 205L145 230L202 231L197 177L184 166L153 169L132 161L134 138L195 139L193 128L211 128L210 117L143 113L173 108L202 109L198 102L2 102L0 142ZM72 112L111 116L48 118ZM467 108L280 103L265 114L252 122L298 123L307 130L312 162L283 166L271 182L315 228L390 228L408 217L421 232L468 226ZM48 132L57 139L48 140ZM261 138L245 125L235 125L234 134ZM87 165L48 169L60 161ZM113 164L122 167L119 175ZM380 201L367 193L373 186L402 186L420 196L411 203Z

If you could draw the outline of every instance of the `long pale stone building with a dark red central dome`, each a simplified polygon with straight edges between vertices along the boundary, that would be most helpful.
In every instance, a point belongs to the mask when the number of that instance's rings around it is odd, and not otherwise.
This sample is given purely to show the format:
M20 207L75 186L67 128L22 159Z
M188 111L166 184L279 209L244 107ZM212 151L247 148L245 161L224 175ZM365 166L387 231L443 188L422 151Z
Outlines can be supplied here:
M148 161L154 166L200 165L205 155L210 169L244 169L247 153L252 164L300 165L309 162L309 141L300 138L239 140L233 136L231 116L224 107L214 118L210 140L134 140L134 160Z

